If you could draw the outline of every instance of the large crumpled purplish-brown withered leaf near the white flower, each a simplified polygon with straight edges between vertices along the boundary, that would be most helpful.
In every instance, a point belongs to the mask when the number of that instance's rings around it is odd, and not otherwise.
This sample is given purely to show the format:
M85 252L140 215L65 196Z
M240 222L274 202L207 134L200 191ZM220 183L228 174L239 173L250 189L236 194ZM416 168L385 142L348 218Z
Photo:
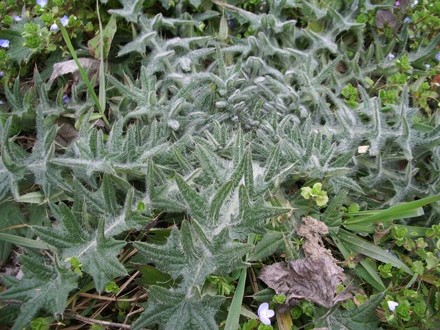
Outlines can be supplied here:
M288 305L295 300L305 299L327 308L351 298L349 292L336 294L342 277L342 268L329 256L317 260L306 258L274 263L263 268L259 276L276 294L285 294Z

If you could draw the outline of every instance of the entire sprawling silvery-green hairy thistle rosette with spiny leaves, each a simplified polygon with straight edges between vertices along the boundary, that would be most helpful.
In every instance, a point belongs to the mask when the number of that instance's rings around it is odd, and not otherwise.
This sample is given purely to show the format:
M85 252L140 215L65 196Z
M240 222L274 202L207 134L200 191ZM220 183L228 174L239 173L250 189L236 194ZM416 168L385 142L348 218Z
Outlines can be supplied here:
M257 14L225 8L254 31L241 39L231 36L226 44L194 34L218 12L191 17L182 14L183 2L175 2L173 19L147 17L142 0L120 1L122 8L112 11L137 28L137 36L120 48L120 58L142 65L137 77L122 74L123 69L107 76L108 131L89 120L91 103L78 86L67 109L81 123L78 137L56 151L53 120L65 109L49 100L49 86L38 72L35 107L28 107L17 87L6 93L14 112L0 126L0 199L19 200L25 189L39 188L51 201L61 193L66 203L73 201L72 208L52 205L58 228L33 228L53 245L54 261L35 259L44 272L26 270L23 280L10 283L2 294L28 302L16 329L32 318L34 314L25 313L31 307L52 314L63 311L67 294L77 285L65 259L78 258L98 291L126 274L117 259L127 246L122 234L142 230L148 217L161 212L186 219L164 245L133 245L145 263L153 263L179 285L149 288L146 311L134 329L154 324L160 329L217 329L214 316L223 297L203 292L203 283L211 274L225 275L248 265L245 255L252 245L243 243L246 236L264 235L267 219L289 211L267 203L270 194L285 192L283 185L323 181L329 197L338 199L331 204L338 206L335 214L324 216L334 222L334 232L347 195L359 202L369 202L365 195L391 196L383 201L386 205L440 191L438 177L419 175L440 169L439 118L433 115L430 125L421 129L406 87L401 99L385 109L380 98L369 94L365 81L367 76L395 72L386 54L393 47L402 54L407 35L401 35L401 45L382 45L377 36L365 48L362 25L353 19L360 11L358 1L342 1L345 4L334 10L318 1L273 0ZM371 1L361 3L366 10L377 7ZM297 27L283 16L289 8L321 20L322 32ZM357 41L350 58L348 35ZM410 61L431 54L432 45L409 54ZM349 82L360 92L356 109L340 98ZM32 109L37 141L29 152L14 139L13 120ZM369 153L359 154L361 145L369 145ZM140 202L145 210L135 210ZM431 221L438 220L434 212ZM32 268L28 256L23 261ZM29 287L49 281L58 282L48 286L44 296L29 295ZM60 300L52 301L58 292ZM345 317L335 314L329 320Z

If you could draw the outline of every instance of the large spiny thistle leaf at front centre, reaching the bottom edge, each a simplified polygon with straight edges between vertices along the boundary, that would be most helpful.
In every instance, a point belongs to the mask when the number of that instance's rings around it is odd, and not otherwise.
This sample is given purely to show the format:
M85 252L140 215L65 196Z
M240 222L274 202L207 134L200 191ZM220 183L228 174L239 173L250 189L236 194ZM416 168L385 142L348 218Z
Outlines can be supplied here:
M241 148L240 142L236 148ZM245 267L243 256L253 246L238 243L234 238L243 238L249 232L261 232L265 219L289 211L250 202L245 186L239 186L245 179L243 176L250 176L248 180L253 181L253 171L248 168L246 158L241 157L241 161L231 168L228 181L217 189L208 186L198 193L183 177L176 177L191 220L183 221L180 230L175 228L166 245L140 242L135 243L135 248L146 263L153 263L181 283L170 291L151 287L153 299L135 322L134 329L154 323L159 324L160 329L217 329L214 315L221 297L201 294L206 277L210 274L225 276ZM205 160L208 163L208 158ZM215 170L211 167L214 164L206 164L206 169ZM248 187L252 187L250 181ZM159 317L162 314L166 314L165 319Z

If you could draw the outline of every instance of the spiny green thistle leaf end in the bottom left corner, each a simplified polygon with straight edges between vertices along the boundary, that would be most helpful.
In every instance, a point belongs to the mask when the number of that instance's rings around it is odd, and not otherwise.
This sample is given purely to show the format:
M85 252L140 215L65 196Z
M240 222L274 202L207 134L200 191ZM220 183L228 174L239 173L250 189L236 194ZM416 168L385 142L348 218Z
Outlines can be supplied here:
M23 279L0 294L0 299L23 301L20 315L12 330L27 327L41 309L55 318L62 314L69 292L78 285L78 274L57 264L48 263L38 253L21 256L20 261Z

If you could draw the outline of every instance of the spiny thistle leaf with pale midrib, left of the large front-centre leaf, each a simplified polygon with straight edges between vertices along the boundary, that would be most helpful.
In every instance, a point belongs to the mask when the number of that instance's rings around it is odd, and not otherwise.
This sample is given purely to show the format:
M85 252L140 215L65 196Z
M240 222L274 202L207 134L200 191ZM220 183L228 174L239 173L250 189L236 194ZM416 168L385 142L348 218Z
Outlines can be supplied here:
M83 270L93 276L96 290L102 292L104 285L113 281L113 278L126 275L124 266L117 259L126 243L112 236L133 228L140 229L148 223L148 219L131 209L133 190L127 193L125 205L118 205L115 188L107 175L102 180L100 190L84 195L87 195L83 199L85 203L80 203L81 199L77 196L73 210L64 203L52 210L58 220L57 230L37 226L32 229L43 241L58 250L61 259L76 257L83 264ZM91 214L101 215L96 220L96 228L85 223L87 206Z

